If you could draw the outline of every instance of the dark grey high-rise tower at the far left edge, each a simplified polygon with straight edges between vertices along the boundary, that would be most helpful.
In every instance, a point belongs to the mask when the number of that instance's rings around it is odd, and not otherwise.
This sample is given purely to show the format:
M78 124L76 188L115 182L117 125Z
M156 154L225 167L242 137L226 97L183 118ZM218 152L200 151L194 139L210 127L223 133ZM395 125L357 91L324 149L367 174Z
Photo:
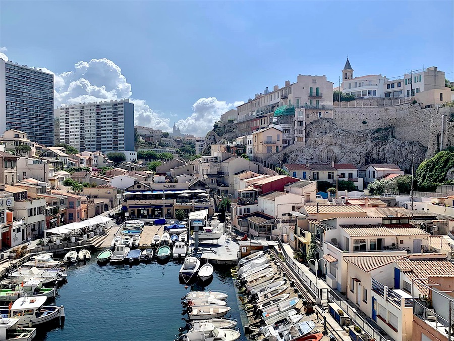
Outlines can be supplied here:
M10 129L53 145L53 74L0 60L0 132Z

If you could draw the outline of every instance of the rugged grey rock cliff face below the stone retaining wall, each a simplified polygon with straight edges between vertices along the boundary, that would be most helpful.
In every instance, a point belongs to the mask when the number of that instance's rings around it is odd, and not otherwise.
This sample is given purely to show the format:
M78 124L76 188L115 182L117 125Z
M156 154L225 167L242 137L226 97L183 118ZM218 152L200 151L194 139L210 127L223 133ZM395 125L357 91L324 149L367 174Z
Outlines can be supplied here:
M286 154L288 163L393 163L406 173L411 172L412 155L415 170L425 159L427 148L421 143L403 141L394 137L394 128L375 130L343 130L331 119L318 119L306 127L306 145L293 144L276 155L280 160ZM270 158L268 161L275 163Z

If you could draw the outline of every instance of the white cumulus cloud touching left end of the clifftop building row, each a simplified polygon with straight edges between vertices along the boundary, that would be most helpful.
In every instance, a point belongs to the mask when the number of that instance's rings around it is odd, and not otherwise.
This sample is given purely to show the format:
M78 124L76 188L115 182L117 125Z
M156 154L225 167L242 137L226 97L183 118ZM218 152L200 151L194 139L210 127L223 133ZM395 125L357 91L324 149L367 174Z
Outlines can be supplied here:
M227 103L218 101L215 97L201 98L192 105L193 113L191 116L176 123L184 133L196 136L205 136L213 128L214 122L220 116L231 109L235 109L243 102Z

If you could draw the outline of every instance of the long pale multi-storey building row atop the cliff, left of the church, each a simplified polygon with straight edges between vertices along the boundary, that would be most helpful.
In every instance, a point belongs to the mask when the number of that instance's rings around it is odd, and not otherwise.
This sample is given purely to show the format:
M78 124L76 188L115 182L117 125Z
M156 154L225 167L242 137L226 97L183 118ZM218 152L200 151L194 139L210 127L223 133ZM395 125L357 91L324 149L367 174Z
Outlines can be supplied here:
M326 76L298 75L295 83L286 81L285 86L275 85L272 91L266 88L263 94L257 93L253 100L249 99L237 108L237 130L242 135L249 135L266 128L273 123L275 110L283 106L304 108L304 114L309 116L320 114L322 117L327 111L329 117L332 115L332 85Z

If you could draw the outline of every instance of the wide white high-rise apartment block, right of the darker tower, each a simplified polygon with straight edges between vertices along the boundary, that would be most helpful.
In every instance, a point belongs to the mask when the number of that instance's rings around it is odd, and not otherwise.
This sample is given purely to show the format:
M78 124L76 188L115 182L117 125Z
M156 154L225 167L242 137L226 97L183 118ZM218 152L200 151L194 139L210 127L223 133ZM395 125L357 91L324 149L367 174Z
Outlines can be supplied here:
M80 151L134 151L134 104L129 100L64 105L60 142Z

